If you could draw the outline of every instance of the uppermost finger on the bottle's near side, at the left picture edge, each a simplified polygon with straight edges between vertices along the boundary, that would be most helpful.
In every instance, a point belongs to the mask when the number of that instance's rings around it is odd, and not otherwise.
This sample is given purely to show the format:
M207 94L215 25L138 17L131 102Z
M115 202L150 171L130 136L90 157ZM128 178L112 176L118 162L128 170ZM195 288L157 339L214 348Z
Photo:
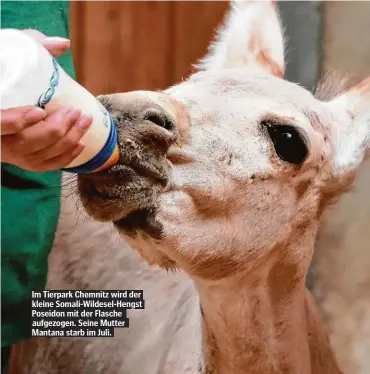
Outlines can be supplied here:
M45 111L33 106L4 109L1 111L1 135L16 134L30 125L42 121Z

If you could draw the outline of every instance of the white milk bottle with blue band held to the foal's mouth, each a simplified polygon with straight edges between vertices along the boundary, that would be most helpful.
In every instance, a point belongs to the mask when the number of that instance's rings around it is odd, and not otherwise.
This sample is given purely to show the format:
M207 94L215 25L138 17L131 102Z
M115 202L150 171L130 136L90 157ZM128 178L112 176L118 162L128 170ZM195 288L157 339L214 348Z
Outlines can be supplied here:
M85 149L64 170L100 171L117 163L117 133L109 112L69 77L51 54L22 31L0 30L0 107L37 105L49 114L61 106L81 109L93 122L82 137Z

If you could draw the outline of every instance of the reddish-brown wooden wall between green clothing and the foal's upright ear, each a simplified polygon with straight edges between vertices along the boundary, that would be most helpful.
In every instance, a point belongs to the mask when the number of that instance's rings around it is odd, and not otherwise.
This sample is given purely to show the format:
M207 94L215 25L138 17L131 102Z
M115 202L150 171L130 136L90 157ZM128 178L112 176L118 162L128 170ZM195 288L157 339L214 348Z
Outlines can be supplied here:
M73 1L78 81L93 94L163 89L204 55L226 1Z

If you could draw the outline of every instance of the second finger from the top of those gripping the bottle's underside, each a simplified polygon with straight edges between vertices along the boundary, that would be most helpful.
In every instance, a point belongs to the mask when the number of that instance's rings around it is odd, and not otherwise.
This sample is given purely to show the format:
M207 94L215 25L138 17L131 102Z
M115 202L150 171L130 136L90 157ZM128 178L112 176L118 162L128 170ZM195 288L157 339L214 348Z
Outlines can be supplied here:
M26 128L13 135L14 152L30 155L59 141L76 123L81 115L80 110L69 108L58 109L44 121Z

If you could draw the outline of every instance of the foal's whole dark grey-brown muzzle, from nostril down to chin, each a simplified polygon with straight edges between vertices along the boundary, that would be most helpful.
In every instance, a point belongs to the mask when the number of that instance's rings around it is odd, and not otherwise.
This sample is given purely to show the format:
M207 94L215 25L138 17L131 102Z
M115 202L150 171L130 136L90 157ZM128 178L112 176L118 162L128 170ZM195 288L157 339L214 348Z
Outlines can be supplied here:
M178 138L176 124L173 116L150 101L140 110L134 105L127 108L121 101L115 108L112 97L101 101L117 125L119 161L107 170L79 175L79 195L95 220L113 222L126 234L140 229L158 237L156 202L170 183L167 151ZM148 117L148 107L157 116Z

